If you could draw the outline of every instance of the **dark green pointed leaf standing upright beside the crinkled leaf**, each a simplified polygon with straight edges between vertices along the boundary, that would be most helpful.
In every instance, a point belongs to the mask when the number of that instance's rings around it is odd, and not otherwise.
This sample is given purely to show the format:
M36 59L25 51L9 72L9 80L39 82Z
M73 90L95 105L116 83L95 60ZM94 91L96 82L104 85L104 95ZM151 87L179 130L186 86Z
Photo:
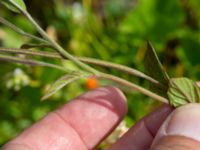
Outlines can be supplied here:
M147 43L147 51L144 58L145 70L147 74L159 81L160 86L150 83L150 89L167 98L169 76L164 70L154 48L151 43Z

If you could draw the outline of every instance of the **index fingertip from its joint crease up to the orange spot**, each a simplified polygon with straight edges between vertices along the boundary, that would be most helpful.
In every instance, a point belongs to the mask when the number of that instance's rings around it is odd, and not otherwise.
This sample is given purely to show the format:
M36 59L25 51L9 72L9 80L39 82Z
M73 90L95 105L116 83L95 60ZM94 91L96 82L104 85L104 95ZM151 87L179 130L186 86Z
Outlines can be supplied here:
M75 128L91 149L120 123L127 113L127 103L119 89L107 86L77 97L56 113Z

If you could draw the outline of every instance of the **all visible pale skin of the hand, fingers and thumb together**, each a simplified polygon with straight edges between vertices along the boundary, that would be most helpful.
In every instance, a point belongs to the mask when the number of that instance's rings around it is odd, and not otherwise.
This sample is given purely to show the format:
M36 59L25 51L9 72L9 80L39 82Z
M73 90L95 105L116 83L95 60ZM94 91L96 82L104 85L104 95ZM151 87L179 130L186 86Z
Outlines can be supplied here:
M98 88L49 113L3 150L92 150L126 113L126 98L119 89ZM109 150L197 150L199 135L199 104L176 110L165 105L139 120Z

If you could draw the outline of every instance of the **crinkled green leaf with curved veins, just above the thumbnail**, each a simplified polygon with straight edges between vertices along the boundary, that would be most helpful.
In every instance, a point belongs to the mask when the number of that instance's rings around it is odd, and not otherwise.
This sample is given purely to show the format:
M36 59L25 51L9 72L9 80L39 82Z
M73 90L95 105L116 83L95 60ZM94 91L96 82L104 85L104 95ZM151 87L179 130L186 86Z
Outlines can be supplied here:
M196 82L185 77L171 79L167 94L174 107L200 102L200 88Z

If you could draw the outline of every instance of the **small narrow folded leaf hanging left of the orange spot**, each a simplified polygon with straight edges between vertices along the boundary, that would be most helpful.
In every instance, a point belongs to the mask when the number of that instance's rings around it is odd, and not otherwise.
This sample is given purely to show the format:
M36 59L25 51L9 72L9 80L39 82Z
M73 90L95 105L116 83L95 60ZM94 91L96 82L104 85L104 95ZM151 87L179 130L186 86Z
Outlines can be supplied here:
M52 84L52 86L49 88L47 93L42 97L42 101L46 100L47 98L49 98L50 96L52 96L53 94L58 92L60 89L65 87L67 84L72 83L82 77L83 77L83 75L80 73L77 73L77 72L73 72L73 73L62 76L61 78L59 78Z

